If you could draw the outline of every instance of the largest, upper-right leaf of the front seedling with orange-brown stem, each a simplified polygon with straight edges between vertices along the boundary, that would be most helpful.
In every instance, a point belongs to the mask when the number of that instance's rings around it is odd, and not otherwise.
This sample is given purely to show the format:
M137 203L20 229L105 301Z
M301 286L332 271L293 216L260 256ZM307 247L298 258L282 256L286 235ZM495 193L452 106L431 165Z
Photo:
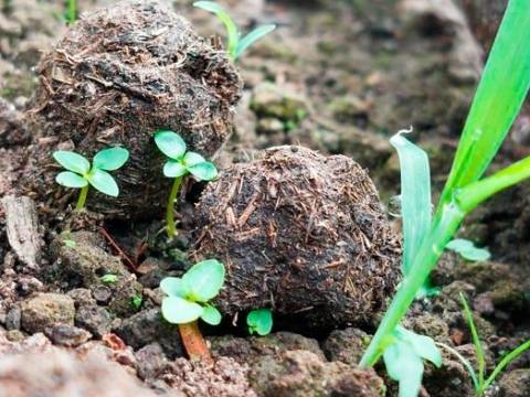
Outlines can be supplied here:
M215 259L193 265L182 276L182 282L189 288L187 298L197 302L208 302L215 298L224 283L224 265Z

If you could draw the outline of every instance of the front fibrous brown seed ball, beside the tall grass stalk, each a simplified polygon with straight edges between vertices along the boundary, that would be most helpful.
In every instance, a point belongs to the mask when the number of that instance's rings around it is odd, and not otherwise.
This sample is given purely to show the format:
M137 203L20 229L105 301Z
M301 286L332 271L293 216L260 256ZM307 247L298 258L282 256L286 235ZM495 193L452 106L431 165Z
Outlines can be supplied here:
M266 150L208 185L197 223L194 259L226 266L215 304L227 314L273 308L315 326L371 323L400 279L378 192L343 155Z

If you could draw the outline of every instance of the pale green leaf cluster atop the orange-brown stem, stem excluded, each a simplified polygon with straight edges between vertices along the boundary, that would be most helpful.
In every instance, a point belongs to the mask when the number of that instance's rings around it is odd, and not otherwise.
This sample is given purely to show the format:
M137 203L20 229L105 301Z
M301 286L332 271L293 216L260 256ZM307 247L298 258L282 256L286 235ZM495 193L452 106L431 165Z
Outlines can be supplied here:
M211 324L221 323L221 313L209 304L224 283L224 265L215 259L192 266L181 278L167 277L160 289L167 294L162 300L162 315L171 324L187 324L199 318Z

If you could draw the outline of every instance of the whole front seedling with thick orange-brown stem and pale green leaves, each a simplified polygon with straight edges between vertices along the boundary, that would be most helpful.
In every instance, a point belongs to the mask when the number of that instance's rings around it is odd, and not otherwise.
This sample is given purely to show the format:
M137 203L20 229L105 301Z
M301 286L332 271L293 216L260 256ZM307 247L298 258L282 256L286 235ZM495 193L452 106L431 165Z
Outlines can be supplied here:
M208 302L223 287L224 273L224 265L210 259L192 266L182 278L167 277L160 282L160 289L167 294L162 300L162 315L168 322L179 324L182 343L192 360L212 361L198 320L211 325L221 323L221 313Z

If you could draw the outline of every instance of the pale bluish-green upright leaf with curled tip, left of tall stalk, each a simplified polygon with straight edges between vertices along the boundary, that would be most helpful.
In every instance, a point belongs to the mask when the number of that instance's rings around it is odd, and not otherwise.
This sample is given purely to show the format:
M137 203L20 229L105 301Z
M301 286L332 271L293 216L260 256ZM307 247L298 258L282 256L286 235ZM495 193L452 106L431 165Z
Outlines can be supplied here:
M403 218L403 276L409 275L414 256L431 227L431 171L427 154L400 131L390 139L401 167L401 215Z

